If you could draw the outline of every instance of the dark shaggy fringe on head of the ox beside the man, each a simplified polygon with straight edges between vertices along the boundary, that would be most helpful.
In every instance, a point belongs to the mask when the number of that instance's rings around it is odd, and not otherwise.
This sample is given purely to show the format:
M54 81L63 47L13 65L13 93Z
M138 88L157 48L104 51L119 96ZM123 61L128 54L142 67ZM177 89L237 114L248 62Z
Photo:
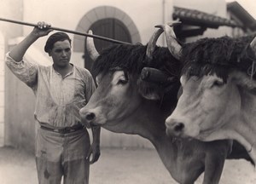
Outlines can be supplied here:
M138 75L145 63L146 46L137 45L113 45L104 49L92 66L92 74L109 72L113 68L121 68L132 75ZM156 47L153 53L154 68L160 69L171 76L179 76L181 64L166 48Z

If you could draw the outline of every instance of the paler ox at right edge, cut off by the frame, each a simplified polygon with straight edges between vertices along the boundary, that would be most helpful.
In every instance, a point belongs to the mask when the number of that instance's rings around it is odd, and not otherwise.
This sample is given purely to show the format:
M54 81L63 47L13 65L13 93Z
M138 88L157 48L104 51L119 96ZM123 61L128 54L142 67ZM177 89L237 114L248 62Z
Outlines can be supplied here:
M255 163L256 39L252 40L225 36L183 45L183 94L166 118L167 134L201 141L234 139Z

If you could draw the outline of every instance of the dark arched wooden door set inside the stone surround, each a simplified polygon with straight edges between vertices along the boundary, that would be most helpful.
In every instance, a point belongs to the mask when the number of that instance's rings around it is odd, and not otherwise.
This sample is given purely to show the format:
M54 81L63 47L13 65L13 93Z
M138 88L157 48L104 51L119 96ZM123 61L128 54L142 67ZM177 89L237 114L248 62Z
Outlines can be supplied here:
M93 34L99 35L102 37L109 37L113 38L119 41L131 43L131 35L126 26L123 22L120 20L114 19L114 18L106 18L102 20L97 20L95 23L93 23L90 28L92 30ZM96 45L96 49L98 51L101 51L104 48L107 48L108 46L114 44L108 41L100 40L100 39L94 39L94 43ZM85 62L86 61L86 62ZM89 55L86 51L86 39L85 39L85 45L84 45L84 66L88 70L90 70L92 65L92 60L90 60Z

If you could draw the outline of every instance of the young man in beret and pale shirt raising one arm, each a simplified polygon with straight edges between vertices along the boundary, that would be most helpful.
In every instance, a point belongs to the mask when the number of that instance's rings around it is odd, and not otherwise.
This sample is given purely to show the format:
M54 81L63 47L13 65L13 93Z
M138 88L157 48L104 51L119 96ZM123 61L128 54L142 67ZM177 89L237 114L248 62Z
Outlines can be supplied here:
M69 63L71 39L64 32L52 34L45 44L44 51L52 58L52 66L22 60L32 43L51 31L49 24L38 22L7 54L6 64L36 95L34 114L41 126L36 139L39 183L59 184L64 176L66 184L87 184L89 166L100 156L100 128L92 129L90 145L90 136L79 116L79 109L96 88L90 72Z

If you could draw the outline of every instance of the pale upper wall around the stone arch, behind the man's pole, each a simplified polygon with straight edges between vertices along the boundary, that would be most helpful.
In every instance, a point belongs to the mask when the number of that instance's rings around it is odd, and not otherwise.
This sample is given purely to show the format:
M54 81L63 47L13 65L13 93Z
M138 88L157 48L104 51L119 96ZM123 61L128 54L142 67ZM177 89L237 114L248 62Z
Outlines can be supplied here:
M147 43L154 26L163 21L163 2L172 8L172 0L24 0L24 21L37 23L44 20L55 27L75 30L84 14L98 6L108 5L129 14L140 32L142 43ZM166 14L166 21L170 21L172 9L167 9ZM31 27L24 27L25 35L31 30ZM42 38L36 44L43 49L45 41L46 38Z

